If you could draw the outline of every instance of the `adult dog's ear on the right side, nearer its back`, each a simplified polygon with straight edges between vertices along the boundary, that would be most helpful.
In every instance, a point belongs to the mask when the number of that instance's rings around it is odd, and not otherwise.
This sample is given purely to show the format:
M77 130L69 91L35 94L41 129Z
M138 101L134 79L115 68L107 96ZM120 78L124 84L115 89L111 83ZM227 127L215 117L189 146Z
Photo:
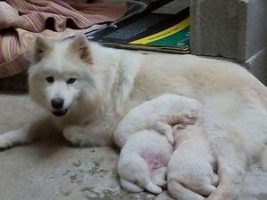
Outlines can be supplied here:
M85 35L77 35L70 44L70 52L78 56L80 60L92 63L92 57L89 49L88 40Z

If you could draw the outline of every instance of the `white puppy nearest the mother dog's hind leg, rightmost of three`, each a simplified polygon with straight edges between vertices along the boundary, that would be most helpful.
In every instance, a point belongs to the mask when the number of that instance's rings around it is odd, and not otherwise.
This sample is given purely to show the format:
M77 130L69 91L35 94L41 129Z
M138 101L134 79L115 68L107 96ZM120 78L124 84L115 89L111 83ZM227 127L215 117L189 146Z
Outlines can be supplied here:
M218 184L216 160L199 124L173 128L175 151L167 165L167 188L175 199L204 200ZM202 195L202 196L201 196Z

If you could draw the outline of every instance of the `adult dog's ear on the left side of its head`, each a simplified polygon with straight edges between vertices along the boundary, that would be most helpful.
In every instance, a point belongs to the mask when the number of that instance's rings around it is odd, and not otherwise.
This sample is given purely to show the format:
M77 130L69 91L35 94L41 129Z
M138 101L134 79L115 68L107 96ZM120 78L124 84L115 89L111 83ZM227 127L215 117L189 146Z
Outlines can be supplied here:
M36 37L36 43L34 46L33 58L34 63L42 60L44 56L52 51L52 44L47 39L41 36Z

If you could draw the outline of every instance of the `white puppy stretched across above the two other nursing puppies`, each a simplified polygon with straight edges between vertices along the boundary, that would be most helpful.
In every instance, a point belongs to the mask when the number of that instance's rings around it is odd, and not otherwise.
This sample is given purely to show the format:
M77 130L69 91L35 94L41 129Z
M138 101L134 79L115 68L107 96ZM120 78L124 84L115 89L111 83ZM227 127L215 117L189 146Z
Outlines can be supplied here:
M117 124L114 140L119 148L134 132L152 128L166 132L166 137L174 143L173 132L166 124L194 124L200 108L198 100L174 94L163 94L131 109Z

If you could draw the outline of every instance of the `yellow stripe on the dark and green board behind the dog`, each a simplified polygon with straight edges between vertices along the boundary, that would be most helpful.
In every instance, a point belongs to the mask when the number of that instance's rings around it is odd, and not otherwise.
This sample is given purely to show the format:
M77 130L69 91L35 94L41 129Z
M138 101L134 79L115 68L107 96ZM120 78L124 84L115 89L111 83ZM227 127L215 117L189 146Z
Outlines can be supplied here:
M174 33L179 32L183 28L187 28L190 25L190 18L187 18L185 20L182 20L179 24L175 24L171 28L167 28L166 30L160 31L157 34L143 37L142 39L135 40L131 42L130 44L148 44L152 43L156 40L162 39L166 36L171 36Z

